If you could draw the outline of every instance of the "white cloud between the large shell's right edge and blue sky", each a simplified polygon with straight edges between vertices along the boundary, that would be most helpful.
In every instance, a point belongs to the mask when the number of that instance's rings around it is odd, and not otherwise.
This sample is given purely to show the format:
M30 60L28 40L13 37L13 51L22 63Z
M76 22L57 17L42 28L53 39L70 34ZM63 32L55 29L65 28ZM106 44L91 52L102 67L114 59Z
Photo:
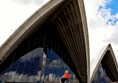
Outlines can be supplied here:
M106 5L110 4L111 0L84 0L84 2L89 30L90 60L92 61L103 46L117 41L118 30L115 30L117 23L113 23L118 19L118 14L111 15L111 9L106 8ZM110 22L109 19L112 21ZM109 38L112 41L108 41ZM112 46L113 48L117 47L116 44ZM114 52L118 57L116 49Z

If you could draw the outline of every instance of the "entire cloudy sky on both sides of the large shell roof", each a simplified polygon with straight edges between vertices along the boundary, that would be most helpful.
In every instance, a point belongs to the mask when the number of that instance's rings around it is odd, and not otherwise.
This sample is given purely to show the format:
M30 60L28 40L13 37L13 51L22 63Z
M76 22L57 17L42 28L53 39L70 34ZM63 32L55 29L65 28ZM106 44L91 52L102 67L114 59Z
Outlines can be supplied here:
M0 0L0 45L48 0ZM118 0L84 0L90 59L111 43L118 61ZM6 24L7 23L7 24Z

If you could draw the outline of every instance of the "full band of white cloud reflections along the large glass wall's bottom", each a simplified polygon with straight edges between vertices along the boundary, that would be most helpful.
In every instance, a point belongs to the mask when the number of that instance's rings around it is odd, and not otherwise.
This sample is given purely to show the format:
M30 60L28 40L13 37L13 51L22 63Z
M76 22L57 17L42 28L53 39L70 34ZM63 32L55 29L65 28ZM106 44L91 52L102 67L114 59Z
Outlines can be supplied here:
M37 82L37 81L59 81L60 77L56 77L54 73L50 73L49 75L41 75L41 71L37 72L37 75L24 75L24 74L19 74L16 71L10 71L9 73L5 73L2 75L2 77L7 81L7 82ZM41 80L40 80L41 79ZM2 80L2 78L0 78ZM2 80L3 81L3 80Z

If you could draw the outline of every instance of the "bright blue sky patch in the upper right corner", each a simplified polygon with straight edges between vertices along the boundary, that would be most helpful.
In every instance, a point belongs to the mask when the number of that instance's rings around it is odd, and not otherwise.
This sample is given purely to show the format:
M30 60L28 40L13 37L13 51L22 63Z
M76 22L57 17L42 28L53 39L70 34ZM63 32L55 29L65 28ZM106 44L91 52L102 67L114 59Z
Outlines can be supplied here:
M105 11L109 11L110 18L107 19L106 24L116 25L116 22L118 21L118 17L116 17L118 13L118 1L117 0L105 0L104 5L100 4L98 11L101 12L101 16L103 18L107 17L107 14Z

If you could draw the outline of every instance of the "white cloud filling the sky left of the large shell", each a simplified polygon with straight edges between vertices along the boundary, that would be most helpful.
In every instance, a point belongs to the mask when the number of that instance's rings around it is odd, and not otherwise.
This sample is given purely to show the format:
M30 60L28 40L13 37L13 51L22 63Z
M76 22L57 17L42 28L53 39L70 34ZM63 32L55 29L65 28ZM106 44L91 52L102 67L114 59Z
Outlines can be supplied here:
M20 2L23 1L30 2L29 4L21 4ZM0 46L27 18L48 0L40 0L42 2L39 2L37 5L36 1L37 0L0 1Z

